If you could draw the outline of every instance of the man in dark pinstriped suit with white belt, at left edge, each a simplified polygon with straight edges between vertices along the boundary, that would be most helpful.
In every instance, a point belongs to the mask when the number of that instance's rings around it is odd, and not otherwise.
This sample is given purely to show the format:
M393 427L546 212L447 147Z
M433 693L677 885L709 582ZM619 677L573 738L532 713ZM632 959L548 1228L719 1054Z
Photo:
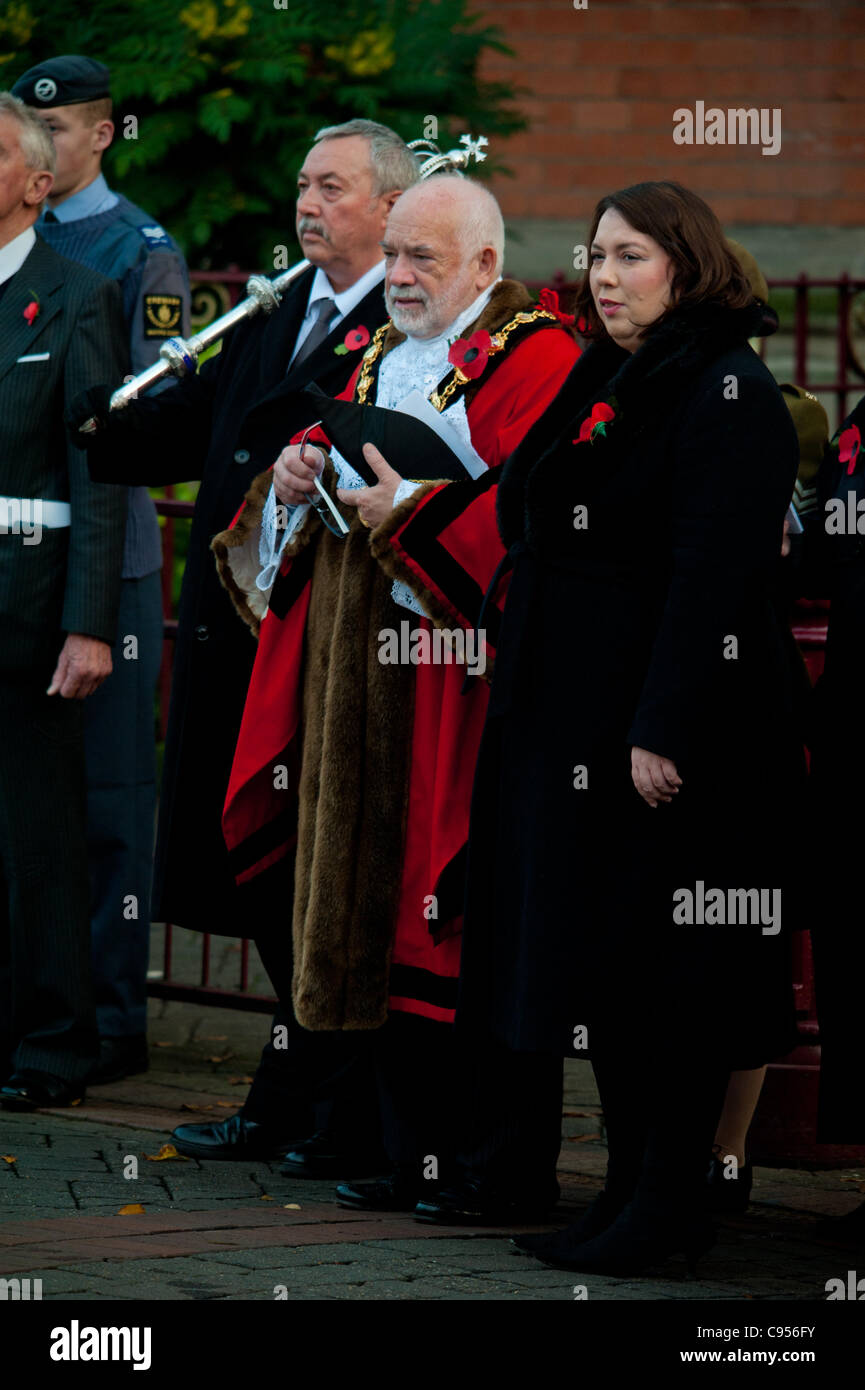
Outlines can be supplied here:
M111 671L127 499L63 414L122 373L117 286L33 222L54 150L0 93L0 1101L71 1105L99 1044L90 987L82 701Z

